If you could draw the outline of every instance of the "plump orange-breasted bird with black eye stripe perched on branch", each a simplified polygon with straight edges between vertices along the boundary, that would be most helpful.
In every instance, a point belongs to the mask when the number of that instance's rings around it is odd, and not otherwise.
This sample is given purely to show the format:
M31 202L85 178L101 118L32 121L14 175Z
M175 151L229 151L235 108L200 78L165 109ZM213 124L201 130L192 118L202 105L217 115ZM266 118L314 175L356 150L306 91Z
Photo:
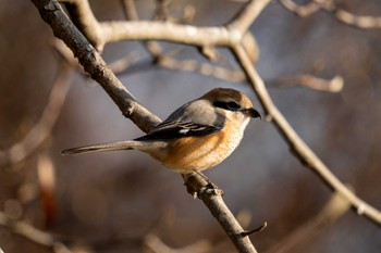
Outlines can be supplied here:
M260 113L245 93L214 88L176 109L145 136L67 149L62 154L137 150L176 173L202 172L232 154L250 118L256 117L260 118Z

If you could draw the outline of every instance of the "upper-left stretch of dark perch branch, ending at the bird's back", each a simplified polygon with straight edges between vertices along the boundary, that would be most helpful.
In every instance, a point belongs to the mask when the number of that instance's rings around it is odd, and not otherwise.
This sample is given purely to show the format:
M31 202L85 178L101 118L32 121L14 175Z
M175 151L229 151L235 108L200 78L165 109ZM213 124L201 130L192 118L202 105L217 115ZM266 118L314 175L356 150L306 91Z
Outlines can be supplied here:
M161 122L158 116L135 100L99 53L67 18L57 1L32 1L39 10L42 20L51 26L54 35L73 51L84 69L105 89L124 116L131 118L146 132Z

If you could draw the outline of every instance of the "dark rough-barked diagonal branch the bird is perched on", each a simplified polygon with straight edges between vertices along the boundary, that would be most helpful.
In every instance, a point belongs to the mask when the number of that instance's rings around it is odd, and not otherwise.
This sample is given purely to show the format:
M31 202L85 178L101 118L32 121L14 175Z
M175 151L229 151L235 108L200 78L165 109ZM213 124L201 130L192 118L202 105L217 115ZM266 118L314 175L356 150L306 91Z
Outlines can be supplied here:
M79 63L84 66L85 71L101 85L125 116L130 117L143 130L149 130L160 122L157 116L143 107L126 88L122 86L114 74L106 65L99 53L95 51L84 36L70 22L56 1L33 0L33 2L39 10L42 20L51 26L54 35L62 39L74 52L74 55L78 58ZM195 27L193 29L197 30ZM202 188L193 189L209 207L210 212L219 220L223 229L225 229L237 250L239 252L256 252L248 237L241 236L244 230L224 204L221 193L214 194L214 188L212 188L213 192L210 192L210 189L208 190L208 188L204 187L205 184L201 180L194 181L198 184L193 186ZM224 211L224 213L219 213L221 211Z

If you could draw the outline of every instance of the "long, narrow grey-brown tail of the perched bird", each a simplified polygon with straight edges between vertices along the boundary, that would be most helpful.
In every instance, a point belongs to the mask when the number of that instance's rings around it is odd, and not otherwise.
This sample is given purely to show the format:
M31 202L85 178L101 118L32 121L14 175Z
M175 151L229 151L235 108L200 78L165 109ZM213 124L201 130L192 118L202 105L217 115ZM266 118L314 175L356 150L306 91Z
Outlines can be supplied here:
M94 144L94 146L85 146L73 148L69 150L63 150L61 154L86 154L86 153L95 153L95 152L103 152L103 151L115 151L115 150L132 150L140 146L139 141L127 140L127 141L119 141L103 144Z

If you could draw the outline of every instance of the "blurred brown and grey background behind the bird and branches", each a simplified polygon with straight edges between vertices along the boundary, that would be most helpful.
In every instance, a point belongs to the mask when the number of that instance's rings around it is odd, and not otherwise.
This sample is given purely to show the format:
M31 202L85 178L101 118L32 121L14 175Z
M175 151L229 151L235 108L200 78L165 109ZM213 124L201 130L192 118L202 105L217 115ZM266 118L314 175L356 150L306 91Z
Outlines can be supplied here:
M200 26L225 24L243 4L168 2L174 17L193 7L189 23ZM378 0L335 2L358 15L381 16ZM124 18L120 1L90 4L99 21ZM136 7L143 20L155 15L155 1L137 1ZM334 175L381 210L380 29L356 28L324 11L298 17L274 1L250 30L260 50L257 69L280 111ZM181 176L149 156L134 151L60 155L63 149L132 139L143 132L81 71L62 74L52 43L50 27L32 2L0 1L0 211L57 236L74 252L165 252L150 249L153 242L173 249L195 246L189 252L234 252L201 201L186 192ZM177 59L208 62L195 48L161 46L174 50ZM236 67L226 50L219 52L224 66ZM247 84L156 66L138 41L109 43L102 55L112 63L132 53L142 64L118 77L161 118L214 87L246 92L262 112ZM303 74L323 79L340 75L344 88L324 92L284 85L284 78ZM63 84L57 85L50 99L57 103L54 110L46 112L57 76ZM35 129L44 113L48 123L57 117L51 131L46 126ZM48 137L34 148L36 132ZM30 154L22 149L19 154L25 159L8 161L10 149L21 149L17 143L26 143ZM381 250L380 226L352 210L327 226L306 226L321 214L332 192L293 156L267 121L251 121L238 149L207 176L223 189L228 206L247 229L268 223L251 236L259 252L285 249L282 243L290 240L298 242L293 252ZM298 229L302 238L290 239ZM4 253L52 252L7 226L0 226L0 248Z

